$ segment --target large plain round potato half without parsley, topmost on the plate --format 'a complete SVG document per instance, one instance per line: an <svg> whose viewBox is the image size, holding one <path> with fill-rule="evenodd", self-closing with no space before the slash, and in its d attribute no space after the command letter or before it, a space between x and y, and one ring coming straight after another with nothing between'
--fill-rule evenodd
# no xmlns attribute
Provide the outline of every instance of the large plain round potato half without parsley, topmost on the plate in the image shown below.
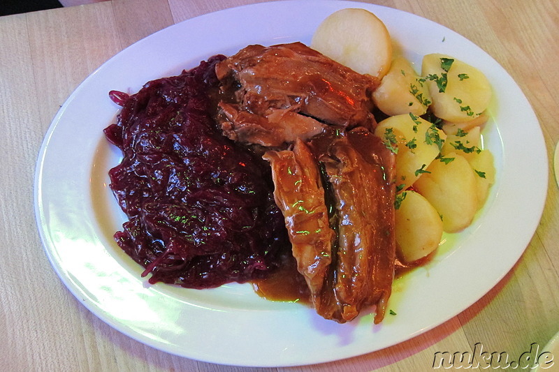
<svg viewBox="0 0 559 372"><path fill-rule="evenodd" d="M342 9L326 17L312 37L311 47L357 73L379 79L389 70L389 31L365 9Z"/></svg>

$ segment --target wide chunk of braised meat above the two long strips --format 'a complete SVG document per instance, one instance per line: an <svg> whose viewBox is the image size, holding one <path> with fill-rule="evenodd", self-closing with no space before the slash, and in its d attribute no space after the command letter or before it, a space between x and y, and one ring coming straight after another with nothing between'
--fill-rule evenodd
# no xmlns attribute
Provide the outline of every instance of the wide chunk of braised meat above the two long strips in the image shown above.
<svg viewBox="0 0 559 372"><path fill-rule="evenodd" d="M249 45L216 66L233 99L219 103L222 128L233 140L280 147L307 140L325 125L370 128L372 91L361 75L302 43Z"/></svg>

